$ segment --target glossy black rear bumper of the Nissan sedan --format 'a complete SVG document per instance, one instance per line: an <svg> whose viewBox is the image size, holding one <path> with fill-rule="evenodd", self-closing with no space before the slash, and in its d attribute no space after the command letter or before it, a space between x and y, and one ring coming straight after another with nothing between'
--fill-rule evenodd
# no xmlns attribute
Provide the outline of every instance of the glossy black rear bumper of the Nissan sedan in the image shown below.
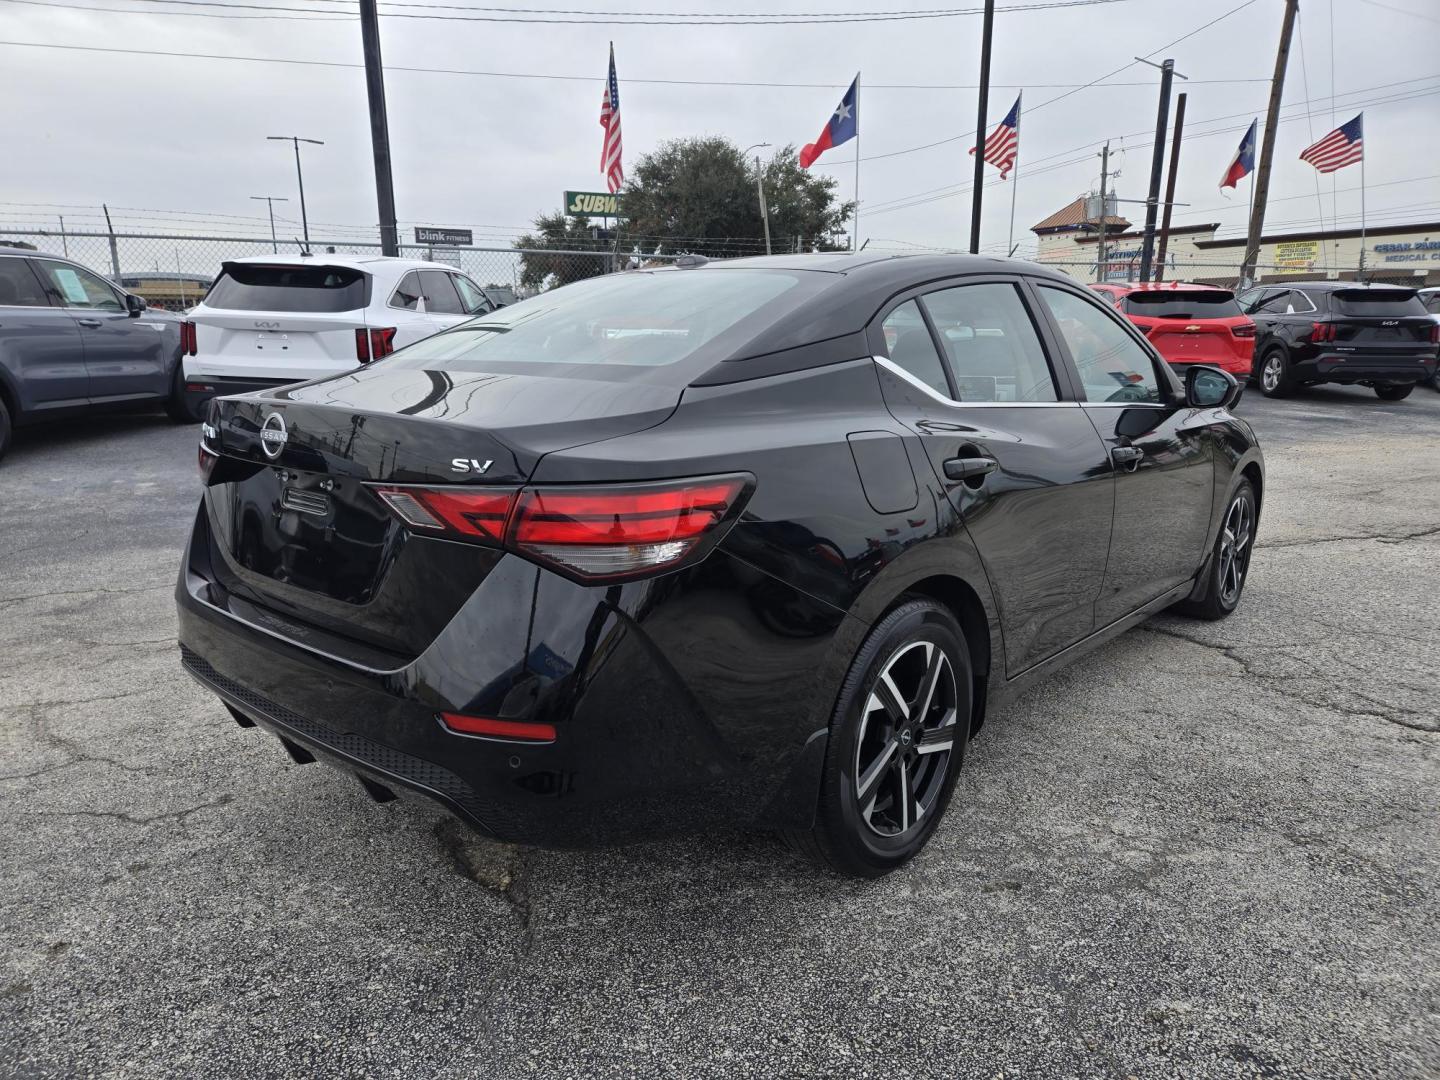
<svg viewBox="0 0 1440 1080"><path fill-rule="evenodd" d="M778 642L789 657L776 667L773 655L729 651L740 642L716 641L706 612L665 613L684 598L675 583L641 613L647 605L618 589L507 557L536 611L497 609L504 598L482 585L419 657L366 667L323 639L287 638L278 619L246 618L255 609L232 603L187 552L176 589L181 662L291 747L372 785L419 792L500 840L585 847L717 824L809 824L825 740L793 690L814 675L829 635ZM732 564L717 552L696 567L708 567L706 602ZM516 576L504 577L514 596ZM644 588L625 586L636 599ZM766 667L778 685L756 677ZM552 723L556 737L456 734L441 713Z"/></svg>

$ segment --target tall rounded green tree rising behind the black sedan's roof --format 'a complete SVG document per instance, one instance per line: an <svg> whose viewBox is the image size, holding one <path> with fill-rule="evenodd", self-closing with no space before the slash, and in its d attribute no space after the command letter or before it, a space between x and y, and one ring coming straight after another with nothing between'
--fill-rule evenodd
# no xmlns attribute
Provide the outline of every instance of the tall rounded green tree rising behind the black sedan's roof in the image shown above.
<svg viewBox="0 0 1440 1080"><path fill-rule="evenodd" d="M776 251L795 238L806 249L835 251L854 203L835 203L837 181L799 167L786 145L760 168ZM727 138L677 138L662 143L634 167L621 193L625 210L622 246L634 238L645 251L727 256L765 251L755 163Z"/></svg>

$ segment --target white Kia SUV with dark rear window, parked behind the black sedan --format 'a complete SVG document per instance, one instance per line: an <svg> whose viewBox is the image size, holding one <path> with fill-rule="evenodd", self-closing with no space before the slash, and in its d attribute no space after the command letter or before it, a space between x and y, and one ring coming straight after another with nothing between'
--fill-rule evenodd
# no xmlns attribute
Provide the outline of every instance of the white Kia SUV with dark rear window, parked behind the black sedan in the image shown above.
<svg viewBox="0 0 1440 1080"><path fill-rule="evenodd" d="M184 406L347 372L495 308L439 262L269 255L222 264L180 327Z"/></svg>

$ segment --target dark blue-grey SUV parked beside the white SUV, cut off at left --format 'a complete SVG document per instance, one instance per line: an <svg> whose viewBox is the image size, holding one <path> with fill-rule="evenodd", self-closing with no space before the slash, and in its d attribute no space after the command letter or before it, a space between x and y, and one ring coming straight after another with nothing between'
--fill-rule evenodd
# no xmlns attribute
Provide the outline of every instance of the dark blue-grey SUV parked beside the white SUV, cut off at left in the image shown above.
<svg viewBox="0 0 1440 1080"><path fill-rule="evenodd" d="M17 425L164 406L183 419L180 323L78 262L0 249L0 456Z"/></svg>

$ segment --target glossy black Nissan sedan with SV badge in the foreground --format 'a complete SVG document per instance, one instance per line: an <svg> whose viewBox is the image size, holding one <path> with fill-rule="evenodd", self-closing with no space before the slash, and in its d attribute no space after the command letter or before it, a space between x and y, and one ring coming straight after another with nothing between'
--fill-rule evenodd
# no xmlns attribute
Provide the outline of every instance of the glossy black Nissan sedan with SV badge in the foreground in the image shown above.
<svg viewBox="0 0 1440 1080"><path fill-rule="evenodd" d="M297 762L508 841L913 857L986 704L1240 602L1238 386L978 256L615 274L216 400L184 667Z"/></svg>

